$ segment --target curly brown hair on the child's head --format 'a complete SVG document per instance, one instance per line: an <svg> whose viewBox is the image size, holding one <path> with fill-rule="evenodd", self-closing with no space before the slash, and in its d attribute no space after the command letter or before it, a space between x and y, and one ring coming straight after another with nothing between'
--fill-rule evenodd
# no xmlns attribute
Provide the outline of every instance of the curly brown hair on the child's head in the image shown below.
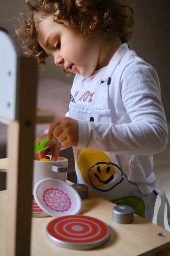
<svg viewBox="0 0 170 256"><path fill-rule="evenodd" d="M37 41L36 23L54 15L54 23L67 20L82 35L91 33L90 26L105 38L117 36L122 43L133 34L133 10L128 0L25 0L27 8L20 12L16 33L27 56L35 56L45 65L48 54ZM65 73L70 73L64 70Z"/></svg>

